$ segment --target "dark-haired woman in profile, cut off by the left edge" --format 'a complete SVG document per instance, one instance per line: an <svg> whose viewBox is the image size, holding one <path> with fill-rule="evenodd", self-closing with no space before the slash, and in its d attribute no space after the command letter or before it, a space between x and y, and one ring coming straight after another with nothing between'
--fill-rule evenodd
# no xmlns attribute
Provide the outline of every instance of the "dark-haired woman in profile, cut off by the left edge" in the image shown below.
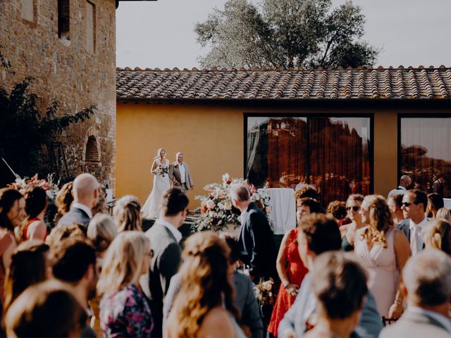
<svg viewBox="0 0 451 338"><path fill-rule="evenodd" d="M16 189L0 189L0 299L3 299L6 270L17 247L14 228L25 219L25 199Z"/></svg>

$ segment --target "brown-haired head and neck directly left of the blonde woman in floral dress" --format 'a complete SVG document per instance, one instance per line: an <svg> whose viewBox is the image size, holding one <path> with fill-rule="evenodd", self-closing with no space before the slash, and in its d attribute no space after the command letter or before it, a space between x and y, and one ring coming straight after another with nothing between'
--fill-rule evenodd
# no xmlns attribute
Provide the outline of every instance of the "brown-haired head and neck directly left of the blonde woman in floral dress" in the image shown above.
<svg viewBox="0 0 451 338"><path fill-rule="evenodd" d="M49 266L57 280L70 285L75 298L89 313L88 301L95 296L99 280L94 248L80 238L63 239L50 247ZM96 335L87 325L82 337Z"/></svg>

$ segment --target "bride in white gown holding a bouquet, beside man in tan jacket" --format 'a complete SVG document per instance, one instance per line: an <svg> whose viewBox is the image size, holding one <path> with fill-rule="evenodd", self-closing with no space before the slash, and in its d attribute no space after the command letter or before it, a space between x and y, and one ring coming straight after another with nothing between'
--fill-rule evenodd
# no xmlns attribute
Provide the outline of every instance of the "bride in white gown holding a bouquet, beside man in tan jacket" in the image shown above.
<svg viewBox="0 0 451 338"><path fill-rule="evenodd" d="M164 192L171 188L168 175L169 160L166 158L166 151L163 148L158 149L151 171L154 174L154 188L142 207L142 217L159 218L161 198Z"/></svg>

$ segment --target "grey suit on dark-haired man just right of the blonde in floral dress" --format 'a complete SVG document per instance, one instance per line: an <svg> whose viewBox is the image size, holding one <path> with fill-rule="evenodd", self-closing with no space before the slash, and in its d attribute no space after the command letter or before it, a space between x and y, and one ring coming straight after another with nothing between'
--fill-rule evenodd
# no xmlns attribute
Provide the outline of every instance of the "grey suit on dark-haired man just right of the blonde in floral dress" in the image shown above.
<svg viewBox="0 0 451 338"><path fill-rule="evenodd" d="M152 336L161 337L163 325L163 298L168 292L169 283L180 265L180 245L172 232L156 220L154 225L147 230L146 236L150 239L150 246L154 251L154 257L150 263L149 290L152 318L154 318L154 330Z"/></svg>

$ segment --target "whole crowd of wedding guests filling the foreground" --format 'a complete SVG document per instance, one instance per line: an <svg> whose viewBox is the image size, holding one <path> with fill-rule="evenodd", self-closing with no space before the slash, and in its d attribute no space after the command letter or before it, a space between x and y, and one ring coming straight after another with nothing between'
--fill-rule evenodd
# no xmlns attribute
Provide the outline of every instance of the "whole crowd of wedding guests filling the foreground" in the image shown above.
<svg viewBox="0 0 451 338"><path fill-rule="evenodd" d="M325 210L304 185L277 249L244 184L230 187L237 238L197 232L183 245L180 189L147 232L140 202L124 196L109 215L89 174L62 187L53 229L42 188L0 189L1 335L451 337L451 212L440 194L396 190ZM261 313L254 285L269 278L277 298Z"/></svg>

